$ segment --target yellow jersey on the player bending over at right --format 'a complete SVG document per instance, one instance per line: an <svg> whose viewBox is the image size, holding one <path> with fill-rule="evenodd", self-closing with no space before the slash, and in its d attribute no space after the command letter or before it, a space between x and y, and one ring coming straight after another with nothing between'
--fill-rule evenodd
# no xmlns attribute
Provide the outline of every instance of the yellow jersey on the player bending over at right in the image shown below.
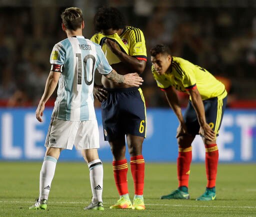
<svg viewBox="0 0 256 217"><path fill-rule="evenodd" d="M170 67L170 72L160 75L152 65L153 77L157 86L162 90L173 86L179 91L188 92L188 90L197 87L202 100L219 96L222 93L224 93L222 97L225 97L227 94L224 84L198 65L172 56Z"/></svg>

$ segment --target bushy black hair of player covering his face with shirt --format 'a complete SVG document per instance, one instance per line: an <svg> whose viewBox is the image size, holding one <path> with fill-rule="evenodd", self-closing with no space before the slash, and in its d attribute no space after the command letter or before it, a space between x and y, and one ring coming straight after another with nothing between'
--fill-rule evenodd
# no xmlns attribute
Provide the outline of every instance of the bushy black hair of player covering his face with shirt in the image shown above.
<svg viewBox="0 0 256 217"><path fill-rule="evenodd" d="M114 30L124 28L125 21L122 13L115 7L100 7L94 16L96 31L112 28Z"/></svg>

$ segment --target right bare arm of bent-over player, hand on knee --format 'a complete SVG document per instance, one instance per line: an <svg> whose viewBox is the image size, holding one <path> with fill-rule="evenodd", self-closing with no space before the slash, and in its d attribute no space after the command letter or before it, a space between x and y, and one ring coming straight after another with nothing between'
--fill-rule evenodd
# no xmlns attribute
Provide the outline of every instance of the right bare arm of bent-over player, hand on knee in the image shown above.
<svg viewBox="0 0 256 217"><path fill-rule="evenodd" d="M210 128L208 123L206 123L203 102L198 89L194 88L189 90L189 94L200 124L199 134L210 141L215 140L215 132Z"/></svg>

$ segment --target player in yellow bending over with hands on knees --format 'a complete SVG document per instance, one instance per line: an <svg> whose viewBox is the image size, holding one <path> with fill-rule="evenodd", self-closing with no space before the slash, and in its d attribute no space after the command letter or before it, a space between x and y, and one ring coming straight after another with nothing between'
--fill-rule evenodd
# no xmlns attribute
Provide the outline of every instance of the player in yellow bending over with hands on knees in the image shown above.
<svg viewBox="0 0 256 217"><path fill-rule="evenodd" d="M166 45L157 44L150 50L152 74L157 86L164 91L170 107L176 114L177 128L177 176L178 188L161 199L188 199L188 178L192 160L191 143L200 134L205 146L207 184L205 192L196 200L214 200L218 163L216 136L226 105L224 84L206 69L180 57L171 56ZM173 90L189 94L189 103L181 113L178 98Z"/></svg>

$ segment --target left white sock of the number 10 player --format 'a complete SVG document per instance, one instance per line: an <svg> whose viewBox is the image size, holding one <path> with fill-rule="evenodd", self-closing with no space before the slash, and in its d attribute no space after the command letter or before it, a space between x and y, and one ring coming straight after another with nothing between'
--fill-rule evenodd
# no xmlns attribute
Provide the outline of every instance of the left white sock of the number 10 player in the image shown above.
<svg viewBox="0 0 256 217"><path fill-rule="evenodd" d="M48 199L50 185L54 176L56 163L57 159L53 156L45 156L43 159L42 167L40 170L38 201L40 201L41 199Z"/></svg>

